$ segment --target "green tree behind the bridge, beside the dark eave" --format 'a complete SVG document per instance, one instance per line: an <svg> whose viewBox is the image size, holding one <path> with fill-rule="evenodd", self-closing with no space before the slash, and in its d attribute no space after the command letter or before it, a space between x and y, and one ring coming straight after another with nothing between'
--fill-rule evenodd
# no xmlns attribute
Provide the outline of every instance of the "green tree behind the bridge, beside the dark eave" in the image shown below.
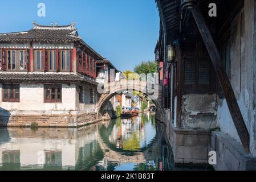
<svg viewBox="0 0 256 182"><path fill-rule="evenodd" d="M142 61L139 65L136 65L133 71L137 74L153 74L156 73L158 69L157 63L155 61Z"/></svg>

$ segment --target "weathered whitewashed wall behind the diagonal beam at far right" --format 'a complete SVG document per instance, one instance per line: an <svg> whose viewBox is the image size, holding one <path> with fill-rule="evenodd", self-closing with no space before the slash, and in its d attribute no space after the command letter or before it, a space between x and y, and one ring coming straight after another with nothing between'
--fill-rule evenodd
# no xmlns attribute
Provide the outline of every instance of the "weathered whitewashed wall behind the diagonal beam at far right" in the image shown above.
<svg viewBox="0 0 256 182"><path fill-rule="evenodd" d="M254 49L254 1L245 2L245 8L237 15L230 27L231 85L235 92L246 127L250 133L250 150L256 156L255 130L255 60ZM243 13L244 11L244 13ZM242 25L242 26L241 26ZM229 113L226 100L218 102L218 126L230 137L239 140Z"/></svg>

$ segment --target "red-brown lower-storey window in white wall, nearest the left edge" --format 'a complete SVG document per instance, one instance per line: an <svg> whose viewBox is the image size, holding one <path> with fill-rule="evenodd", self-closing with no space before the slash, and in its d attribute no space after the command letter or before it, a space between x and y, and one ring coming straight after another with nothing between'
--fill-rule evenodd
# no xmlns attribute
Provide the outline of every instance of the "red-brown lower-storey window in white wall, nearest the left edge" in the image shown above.
<svg viewBox="0 0 256 182"><path fill-rule="evenodd" d="M3 102L19 102L19 84L3 84Z"/></svg>

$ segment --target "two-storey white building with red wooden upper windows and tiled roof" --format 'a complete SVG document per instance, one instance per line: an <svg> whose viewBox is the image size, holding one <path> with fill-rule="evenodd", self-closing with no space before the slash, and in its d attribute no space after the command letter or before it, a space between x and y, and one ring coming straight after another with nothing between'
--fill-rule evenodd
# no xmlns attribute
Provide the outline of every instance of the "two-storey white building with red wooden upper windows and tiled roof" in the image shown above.
<svg viewBox="0 0 256 182"><path fill-rule="evenodd" d="M1 126L77 127L95 120L96 60L74 23L0 34Z"/></svg>

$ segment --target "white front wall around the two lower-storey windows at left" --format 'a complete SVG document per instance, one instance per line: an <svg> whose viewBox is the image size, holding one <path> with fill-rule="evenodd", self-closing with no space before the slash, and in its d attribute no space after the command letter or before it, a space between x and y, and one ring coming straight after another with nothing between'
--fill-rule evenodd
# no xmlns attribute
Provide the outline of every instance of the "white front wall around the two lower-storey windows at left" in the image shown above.
<svg viewBox="0 0 256 182"><path fill-rule="evenodd" d="M11 114L66 114L76 110L76 85L62 84L62 103L44 103L44 84L20 84L20 102L2 102L0 107Z"/></svg>

